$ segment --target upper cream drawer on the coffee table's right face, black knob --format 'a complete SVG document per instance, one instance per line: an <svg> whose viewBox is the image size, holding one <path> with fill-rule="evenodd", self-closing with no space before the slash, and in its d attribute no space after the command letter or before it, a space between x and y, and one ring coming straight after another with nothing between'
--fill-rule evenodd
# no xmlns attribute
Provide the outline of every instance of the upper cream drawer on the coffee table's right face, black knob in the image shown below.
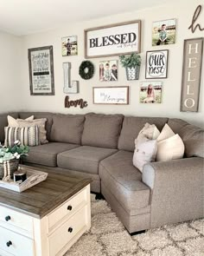
<svg viewBox="0 0 204 256"><path fill-rule="evenodd" d="M56 208L52 213L48 214L48 229L50 229L59 221L61 221L65 216L73 215L79 208L87 203L88 200L88 189L85 187L76 194L70 200L67 200L60 207Z"/></svg>

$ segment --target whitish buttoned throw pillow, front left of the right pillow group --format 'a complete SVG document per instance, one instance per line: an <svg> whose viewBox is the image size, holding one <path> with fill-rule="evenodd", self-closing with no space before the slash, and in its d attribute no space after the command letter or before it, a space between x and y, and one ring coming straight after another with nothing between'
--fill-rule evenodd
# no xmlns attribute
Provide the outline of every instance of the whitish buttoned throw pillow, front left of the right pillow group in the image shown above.
<svg viewBox="0 0 204 256"><path fill-rule="evenodd" d="M143 135L140 135L133 154L133 165L143 172L143 166L146 163L155 161L156 151L157 141L149 140Z"/></svg>

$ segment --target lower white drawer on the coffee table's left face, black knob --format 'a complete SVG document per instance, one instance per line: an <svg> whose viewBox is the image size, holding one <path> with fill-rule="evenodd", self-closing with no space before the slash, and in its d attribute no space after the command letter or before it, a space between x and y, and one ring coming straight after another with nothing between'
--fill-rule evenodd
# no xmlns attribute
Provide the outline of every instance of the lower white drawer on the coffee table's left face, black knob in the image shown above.
<svg viewBox="0 0 204 256"><path fill-rule="evenodd" d="M4 255L34 256L34 241L0 226L0 252L5 252Z"/></svg>

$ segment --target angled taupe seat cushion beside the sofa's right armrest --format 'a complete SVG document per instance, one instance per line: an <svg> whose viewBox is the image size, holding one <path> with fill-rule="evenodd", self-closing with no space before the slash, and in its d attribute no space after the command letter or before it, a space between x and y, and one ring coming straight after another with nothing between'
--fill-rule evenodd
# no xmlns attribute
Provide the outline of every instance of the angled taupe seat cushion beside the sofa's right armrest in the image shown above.
<svg viewBox="0 0 204 256"><path fill-rule="evenodd" d="M133 153L120 150L99 164L101 182L130 214L148 207L150 202L150 187L142 182L142 174L132 165L132 157Z"/></svg>

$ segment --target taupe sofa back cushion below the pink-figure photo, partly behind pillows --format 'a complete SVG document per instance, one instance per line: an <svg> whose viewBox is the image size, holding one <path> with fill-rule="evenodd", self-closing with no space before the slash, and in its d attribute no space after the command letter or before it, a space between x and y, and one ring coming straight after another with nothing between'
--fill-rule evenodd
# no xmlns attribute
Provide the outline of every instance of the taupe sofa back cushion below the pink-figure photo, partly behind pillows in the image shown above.
<svg viewBox="0 0 204 256"><path fill-rule="evenodd" d="M156 128L161 131L167 121L168 118L163 117L125 116L121 134L118 140L118 149L134 151L135 139L146 122L155 124Z"/></svg>

